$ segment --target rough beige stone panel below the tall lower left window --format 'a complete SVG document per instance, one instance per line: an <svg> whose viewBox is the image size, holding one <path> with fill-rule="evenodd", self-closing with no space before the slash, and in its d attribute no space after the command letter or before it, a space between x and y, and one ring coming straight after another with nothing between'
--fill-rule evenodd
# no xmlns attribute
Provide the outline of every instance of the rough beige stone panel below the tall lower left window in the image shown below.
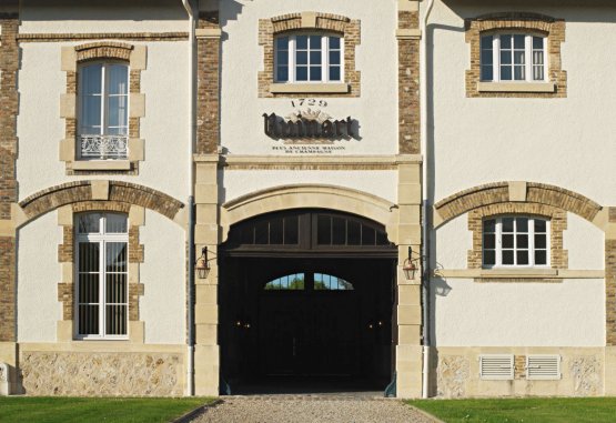
<svg viewBox="0 0 616 423"><path fill-rule="evenodd" d="M21 372L28 395L183 394L180 354L26 352Z"/></svg>

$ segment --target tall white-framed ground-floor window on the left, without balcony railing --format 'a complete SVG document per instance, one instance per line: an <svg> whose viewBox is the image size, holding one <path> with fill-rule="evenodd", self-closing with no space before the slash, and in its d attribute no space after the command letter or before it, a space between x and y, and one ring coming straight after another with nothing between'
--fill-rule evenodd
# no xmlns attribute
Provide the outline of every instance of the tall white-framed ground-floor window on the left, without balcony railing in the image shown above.
<svg viewBox="0 0 616 423"><path fill-rule="evenodd" d="M75 334L127 339L128 219L118 213L75 218Z"/></svg>

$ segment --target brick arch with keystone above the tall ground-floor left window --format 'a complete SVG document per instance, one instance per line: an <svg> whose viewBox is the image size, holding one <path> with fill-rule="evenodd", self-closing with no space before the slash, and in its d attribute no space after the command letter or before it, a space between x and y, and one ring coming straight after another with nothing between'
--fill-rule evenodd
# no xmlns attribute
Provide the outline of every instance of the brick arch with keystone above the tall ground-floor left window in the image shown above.
<svg viewBox="0 0 616 423"><path fill-rule="evenodd" d="M103 191L102 198L100 195L101 188ZM181 201L163 192L135 183L120 181L77 181L63 183L39 191L22 200L19 205L26 214L26 222L28 222L62 205L91 201L112 201L140 205L171 220L184 207Z"/></svg>

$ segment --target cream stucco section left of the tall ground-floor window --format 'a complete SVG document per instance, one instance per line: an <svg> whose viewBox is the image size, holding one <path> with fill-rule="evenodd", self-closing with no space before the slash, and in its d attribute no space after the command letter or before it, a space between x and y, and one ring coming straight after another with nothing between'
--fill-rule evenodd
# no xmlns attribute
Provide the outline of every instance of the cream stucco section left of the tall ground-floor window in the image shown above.
<svg viewBox="0 0 616 423"><path fill-rule="evenodd" d="M18 233L17 338L19 342L55 342L55 325L62 319L58 302L58 244L62 228L57 213L30 222Z"/></svg>

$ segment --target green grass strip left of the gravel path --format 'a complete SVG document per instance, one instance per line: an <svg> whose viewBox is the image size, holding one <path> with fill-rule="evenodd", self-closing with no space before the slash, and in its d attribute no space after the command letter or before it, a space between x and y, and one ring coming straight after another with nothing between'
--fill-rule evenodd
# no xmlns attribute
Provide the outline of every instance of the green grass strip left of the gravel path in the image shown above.
<svg viewBox="0 0 616 423"><path fill-rule="evenodd" d="M206 397L110 399L1 396L0 422L166 423L204 404Z"/></svg>

